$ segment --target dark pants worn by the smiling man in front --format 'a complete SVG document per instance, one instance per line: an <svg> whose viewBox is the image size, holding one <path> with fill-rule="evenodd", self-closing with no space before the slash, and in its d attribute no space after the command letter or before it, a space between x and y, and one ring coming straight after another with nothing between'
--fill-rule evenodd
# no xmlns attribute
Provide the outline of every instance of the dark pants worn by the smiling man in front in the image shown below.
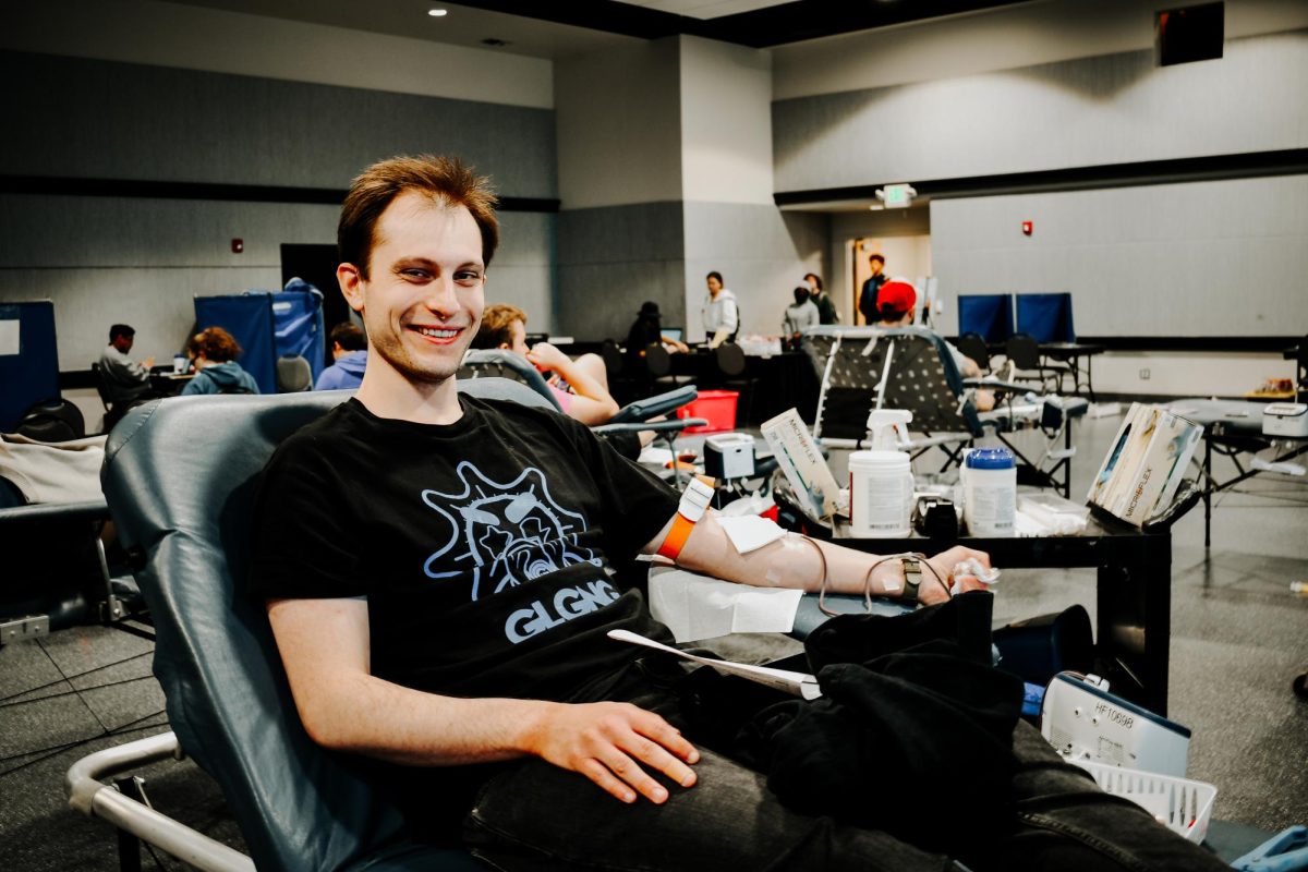
<svg viewBox="0 0 1308 872"><path fill-rule="evenodd" d="M679 723L663 692L621 694ZM955 863L879 830L799 814L768 791L766 778L700 748L697 783L661 779L671 797L625 805L589 779L539 760L496 775L464 820L472 852L500 869L1228 869L1129 800L1109 796L1063 763L1025 723L1014 732L1012 830L984 855ZM940 826L965 808L923 808Z"/></svg>

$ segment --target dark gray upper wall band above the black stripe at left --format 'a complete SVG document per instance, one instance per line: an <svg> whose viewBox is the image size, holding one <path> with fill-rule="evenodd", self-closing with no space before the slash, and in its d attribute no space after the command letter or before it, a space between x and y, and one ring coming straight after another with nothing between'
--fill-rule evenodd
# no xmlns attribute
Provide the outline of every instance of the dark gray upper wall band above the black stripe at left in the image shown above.
<svg viewBox="0 0 1308 872"><path fill-rule="evenodd" d="M549 110L8 51L0 76L0 173L344 188L439 152L501 193L557 196Z"/></svg>

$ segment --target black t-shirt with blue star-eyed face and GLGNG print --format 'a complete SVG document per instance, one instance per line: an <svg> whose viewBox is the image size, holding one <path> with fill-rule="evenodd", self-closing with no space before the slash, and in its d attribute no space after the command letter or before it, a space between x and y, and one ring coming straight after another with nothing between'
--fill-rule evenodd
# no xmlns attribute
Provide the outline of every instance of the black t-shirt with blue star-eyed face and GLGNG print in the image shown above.
<svg viewBox="0 0 1308 872"><path fill-rule="evenodd" d="M371 669L462 697L568 699L668 639L623 565L678 493L572 418L462 396L451 425L349 400L264 471L252 586L266 599L366 596Z"/></svg>

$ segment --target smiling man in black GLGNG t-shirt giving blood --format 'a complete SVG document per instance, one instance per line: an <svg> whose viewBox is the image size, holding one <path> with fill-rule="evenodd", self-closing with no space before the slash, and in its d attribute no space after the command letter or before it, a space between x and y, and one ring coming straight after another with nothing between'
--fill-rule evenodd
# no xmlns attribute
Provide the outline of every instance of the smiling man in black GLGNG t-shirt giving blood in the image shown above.
<svg viewBox="0 0 1308 872"><path fill-rule="evenodd" d="M666 660L606 637L670 638L611 573L637 552L901 597L917 567L793 536L740 554L712 512L674 522L678 494L585 426L456 392L493 203L484 179L430 156L374 165L345 197L336 275L364 316L368 371L269 460L251 556L309 736L394 791L415 838L462 839L497 869L956 868L782 807L764 775L681 732ZM922 558L918 600L982 587L950 574L968 557L989 562L961 546ZM1011 828L971 868L1226 868L1099 792L1029 726L1012 735ZM939 828L968 811L914 809Z"/></svg>

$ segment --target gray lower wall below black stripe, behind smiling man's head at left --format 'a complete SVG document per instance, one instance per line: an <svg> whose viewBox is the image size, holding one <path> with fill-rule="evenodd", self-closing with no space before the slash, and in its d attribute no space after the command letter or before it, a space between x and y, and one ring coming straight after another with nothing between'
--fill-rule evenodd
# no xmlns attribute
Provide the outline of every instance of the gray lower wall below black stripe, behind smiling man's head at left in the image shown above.
<svg viewBox="0 0 1308 872"><path fill-rule="evenodd" d="M137 329L135 354L170 357L196 294L281 286L281 243L334 243L328 205L0 195L0 299L54 299L60 369L99 354L109 326ZM552 214L505 213L488 298L552 323ZM233 237L245 252L232 254ZM323 293L339 293L335 286Z"/></svg>

